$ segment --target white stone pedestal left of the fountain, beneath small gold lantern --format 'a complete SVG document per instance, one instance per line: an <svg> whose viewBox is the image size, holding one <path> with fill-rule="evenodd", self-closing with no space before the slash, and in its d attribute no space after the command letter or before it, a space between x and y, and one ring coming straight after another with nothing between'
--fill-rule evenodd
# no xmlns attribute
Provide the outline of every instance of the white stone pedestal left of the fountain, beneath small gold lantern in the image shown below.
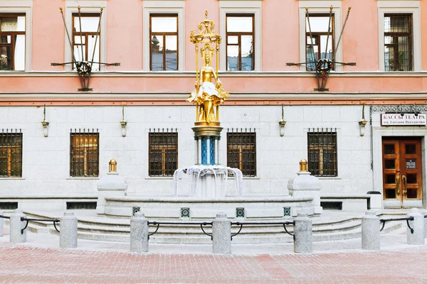
<svg viewBox="0 0 427 284"><path fill-rule="evenodd" d="M126 196L127 182L117 172L110 172L104 175L97 182L98 198L96 202L96 213L105 214L105 197Z"/></svg>

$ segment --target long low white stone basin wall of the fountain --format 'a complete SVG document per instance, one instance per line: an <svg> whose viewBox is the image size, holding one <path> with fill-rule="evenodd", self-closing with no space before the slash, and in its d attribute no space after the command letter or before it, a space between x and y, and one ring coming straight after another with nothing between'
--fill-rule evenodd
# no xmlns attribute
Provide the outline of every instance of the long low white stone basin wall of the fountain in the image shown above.
<svg viewBox="0 0 427 284"><path fill-rule="evenodd" d="M218 212L226 213L228 218L283 219L295 217L300 212L313 215L312 200L312 197L291 196L229 197L220 200L189 197L105 197L105 215L132 217L132 212L137 207L148 219L214 219Z"/></svg>

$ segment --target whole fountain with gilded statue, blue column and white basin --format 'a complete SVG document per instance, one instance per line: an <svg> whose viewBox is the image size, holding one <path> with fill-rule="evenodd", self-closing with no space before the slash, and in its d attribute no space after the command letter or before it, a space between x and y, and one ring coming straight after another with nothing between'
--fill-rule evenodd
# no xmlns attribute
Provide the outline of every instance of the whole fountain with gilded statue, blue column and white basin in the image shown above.
<svg viewBox="0 0 427 284"><path fill-rule="evenodd" d="M198 30L191 31L190 36L196 51L195 89L187 99L196 105L196 121L192 127L194 165L175 171L174 197L105 197L105 215L129 217L135 209L144 212L150 219L171 220L213 219L218 212L238 219L283 219L296 216L299 212L314 214L313 198L310 196L243 197L241 170L219 163L223 129L219 109L229 94L218 78L221 36L214 33L214 22L209 21L207 11L205 15ZM214 54L216 69L211 66ZM203 60L200 68L199 56ZM233 185L233 197L226 196L226 192L229 193L227 185ZM182 197L182 192L189 193Z"/></svg>

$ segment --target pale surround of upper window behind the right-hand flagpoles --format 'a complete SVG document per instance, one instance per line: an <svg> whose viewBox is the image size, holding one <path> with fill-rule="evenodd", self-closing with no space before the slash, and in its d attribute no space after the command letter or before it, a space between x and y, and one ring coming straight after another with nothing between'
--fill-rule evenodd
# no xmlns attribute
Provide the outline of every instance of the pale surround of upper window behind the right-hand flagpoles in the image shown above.
<svg viewBox="0 0 427 284"><path fill-rule="evenodd" d="M324 14L329 15L330 14L330 6L333 6L332 14L334 15L334 38L332 39L334 43L337 41L337 37L339 37L339 34L342 30L342 9L341 9L341 0L330 0L330 1L317 1L317 0L300 0L299 3L299 16L300 16L300 62L306 62L307 61L307 55L306 55L306 37L305 37L305 8L308 7L308 12L310 15L315 14ZM335 48L335 46L334 46ZM336 62L342 62L342 43L339 45L337 50L335 51L335 61ZM314 71L307 71L307 68L305 65L300 65L300 71L302 72L314 72ZM337 64L334 66L334 71L341 72L342 71L342 65Z"/></svg>

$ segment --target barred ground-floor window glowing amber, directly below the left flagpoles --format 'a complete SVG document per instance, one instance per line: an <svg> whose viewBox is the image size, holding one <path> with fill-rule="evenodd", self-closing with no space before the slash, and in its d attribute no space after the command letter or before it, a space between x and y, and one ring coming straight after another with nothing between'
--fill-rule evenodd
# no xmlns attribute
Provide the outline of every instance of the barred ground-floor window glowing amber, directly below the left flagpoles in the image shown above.
<svg viewBox="0 0 427 284"><path fill-rule="evenodd" d="M76 143L73 143L74 141L73 141L73 136L77 136L77 137L83 137L83 138L86 138L87 136L92 136L92 139L93 138L96 138L97 139L97 143L96 144L90 144L90 143L88 143L88 144L86 144L86 143L83 143L83 175L79 175L79 174L76 174L76 175L74 175L74 173L73 172L75 172L76 170L75 170L75 166L77 165L77 168L80 166L79 164L80 164L80 161L79 160L75 160L76 158L75 158L75 151L74 151L74 149L75 149L75 144ZM96 148L95 148L95 146L96 146ZM81 148L82 147L79 147L77 150L79 151L79 150L81 150ZM91 171L89 168L90 168L90 166L89 166L89 160L88 160L88 155L89 155L89 153L87 153L87 151L88 151L88 148L92 148L92 150L95 150L96 151L96 170L95 170L95 174L92 174L92 175L90 175L88 172L89 171ZM82 153L77 153L78 155L82 155ZM79 171L79 169L77 170L77 171ZM97 178L97 177L99 177L99 175L100 175L100 133L99 132L95 132L95 131L93 131L93 132L85 132L84 131L84 129L83 129L83 132L80 132L80 130L79 130L79 132L77 132L77 131L75 131L75 132L73 132L73 131L71 131L70 132L70 177L71 178Z"/></svg>

